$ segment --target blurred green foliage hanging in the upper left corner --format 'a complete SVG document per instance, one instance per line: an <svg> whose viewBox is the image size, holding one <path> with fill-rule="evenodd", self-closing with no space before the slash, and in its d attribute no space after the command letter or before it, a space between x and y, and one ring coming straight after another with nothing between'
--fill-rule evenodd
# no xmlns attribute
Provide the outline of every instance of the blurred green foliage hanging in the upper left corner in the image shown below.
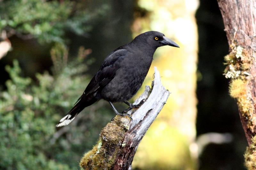
<svg viewBox="0 0 256 170"><path fill-rule="evenodd" d="M88 22L107 8L89 13L83 1L8 0L0 1L0 33L37 38L39 42L63 42L65 31L82 35Z"/></svg>

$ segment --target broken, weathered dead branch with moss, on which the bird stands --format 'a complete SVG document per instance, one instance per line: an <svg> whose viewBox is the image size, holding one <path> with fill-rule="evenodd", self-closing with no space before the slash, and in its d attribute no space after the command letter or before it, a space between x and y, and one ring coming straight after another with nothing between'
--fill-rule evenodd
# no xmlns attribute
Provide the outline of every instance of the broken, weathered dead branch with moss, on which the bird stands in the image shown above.
<svg viewBox="0 0 256 170"><path fill-rule="evenodd" d="M83 169L132 169L132 160L141 139L170 94L161 84L156 67L154 77L151 89L146 86L144 93L133 103L145 100L143 105L128 111L132 121L129 117L114 117L100 132L98 145L81 159Z"/></svg>

